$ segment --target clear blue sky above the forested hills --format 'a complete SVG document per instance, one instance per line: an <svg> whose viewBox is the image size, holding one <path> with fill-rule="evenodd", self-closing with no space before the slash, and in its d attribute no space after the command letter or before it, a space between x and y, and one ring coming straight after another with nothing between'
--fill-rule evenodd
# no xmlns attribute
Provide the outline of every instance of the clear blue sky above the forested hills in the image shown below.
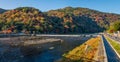
<svg viewBox="0 0 120 62"><path fill-rule="evenodd" d="M119 13L120 0L0 0L0 8L35 7L41 11L72 7L85 7L102 12Z"/></svg>

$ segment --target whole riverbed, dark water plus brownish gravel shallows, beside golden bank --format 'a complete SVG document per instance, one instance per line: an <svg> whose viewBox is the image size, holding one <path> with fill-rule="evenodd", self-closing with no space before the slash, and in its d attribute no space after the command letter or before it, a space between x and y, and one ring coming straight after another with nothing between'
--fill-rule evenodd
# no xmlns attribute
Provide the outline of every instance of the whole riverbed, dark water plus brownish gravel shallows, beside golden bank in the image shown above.
<svg viewBox="0 0 120 62"><path fill-rule="evenodd" d="M0 62L54 62L60 59L63 53L89 38L91 37L0 38ZM59 40L39 43L43 39ZM38 43L23 45L24 42L31 40Z"/></svg>

